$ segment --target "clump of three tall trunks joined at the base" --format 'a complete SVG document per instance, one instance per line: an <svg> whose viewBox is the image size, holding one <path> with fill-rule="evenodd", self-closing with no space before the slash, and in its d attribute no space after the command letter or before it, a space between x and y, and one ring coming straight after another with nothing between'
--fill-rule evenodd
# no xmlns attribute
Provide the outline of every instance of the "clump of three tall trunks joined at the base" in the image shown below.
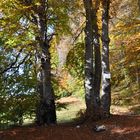
<svg viewBox="0 0 140 140"><path fill-rule="evenodd" d="M85 27L85 100L87 117L97 119L110 114L111 89L109 70L109 0L103 1L102 67L96 10L92 0L83 0L86 11ZM94 60L95 59L95 60ZM95 66L95 67L94 67ZM102 96L100 84L102 73Z"/></svg>

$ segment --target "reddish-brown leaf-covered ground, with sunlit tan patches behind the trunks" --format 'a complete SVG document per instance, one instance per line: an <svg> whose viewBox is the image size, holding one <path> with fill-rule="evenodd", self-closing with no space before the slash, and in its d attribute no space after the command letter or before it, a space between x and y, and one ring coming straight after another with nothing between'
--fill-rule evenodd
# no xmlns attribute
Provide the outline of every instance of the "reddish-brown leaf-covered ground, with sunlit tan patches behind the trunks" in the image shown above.
<svg viewBox="0 0 140 140"><path fill-rule="evenodd" d="M77 103L74 98L60 102ZM140 115L131 115L127 109L113 107L109 119L81 125L59 123L54 126L27 125L0 131L0 140L140 140ZM117 115L119 114L119 115ZM95 125L105 125L106 130L95 132Z"/></svg>

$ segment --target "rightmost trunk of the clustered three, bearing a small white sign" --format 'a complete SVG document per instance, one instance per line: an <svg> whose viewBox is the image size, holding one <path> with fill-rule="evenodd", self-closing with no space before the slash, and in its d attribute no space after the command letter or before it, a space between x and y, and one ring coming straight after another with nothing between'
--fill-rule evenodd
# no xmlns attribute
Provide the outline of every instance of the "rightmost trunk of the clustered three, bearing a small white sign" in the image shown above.
<svg viewBox="0 0 140 140"><path fill-rule="evenodd" d="M102 96L101 107L103 116L110 115L111 105L111 84L110 84L110 68L109 68L109 0L103 0L102 6Z"/></svg>

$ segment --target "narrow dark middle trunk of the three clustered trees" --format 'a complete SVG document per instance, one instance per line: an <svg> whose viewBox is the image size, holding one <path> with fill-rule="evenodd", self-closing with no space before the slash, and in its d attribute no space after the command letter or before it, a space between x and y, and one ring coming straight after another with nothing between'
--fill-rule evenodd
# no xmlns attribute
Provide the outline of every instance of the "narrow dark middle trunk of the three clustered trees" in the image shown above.
<svg viewBox="0 0 140 140"><path fill-rule="evenodd" d="M101 86L101 52L100 52L100 42L98 34L98 25L97 25L97 16L96 9L92 8L92 27L93 27L93 44L94 44L94 58L95 58L95 67L94 67L94 103L96 108L96 114L100 115L100 86Z"/></svg>

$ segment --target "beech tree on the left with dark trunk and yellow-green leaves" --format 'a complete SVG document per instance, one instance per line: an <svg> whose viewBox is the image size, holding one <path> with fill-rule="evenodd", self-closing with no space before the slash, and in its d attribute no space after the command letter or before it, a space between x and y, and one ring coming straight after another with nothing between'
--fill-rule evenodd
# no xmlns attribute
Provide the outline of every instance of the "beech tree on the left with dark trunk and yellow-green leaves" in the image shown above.
<svg viewBox="0 0 140 140"><path fill-rule="evenodd" d="M27 50L27 56L29 52L34 54L37 57L37 63L41 63L38 80L40 101L36 112L37 123L56 123L50 47L54 35L69 32L68 14L72 8L70 2L56 0L14 0L11 2L7 0L2 1L0 7L1 33L5 37L5 42L14 49L18 46ZM21 40L24 45L21 45ZM6 72L6 69L3 72Z"/></svg>

